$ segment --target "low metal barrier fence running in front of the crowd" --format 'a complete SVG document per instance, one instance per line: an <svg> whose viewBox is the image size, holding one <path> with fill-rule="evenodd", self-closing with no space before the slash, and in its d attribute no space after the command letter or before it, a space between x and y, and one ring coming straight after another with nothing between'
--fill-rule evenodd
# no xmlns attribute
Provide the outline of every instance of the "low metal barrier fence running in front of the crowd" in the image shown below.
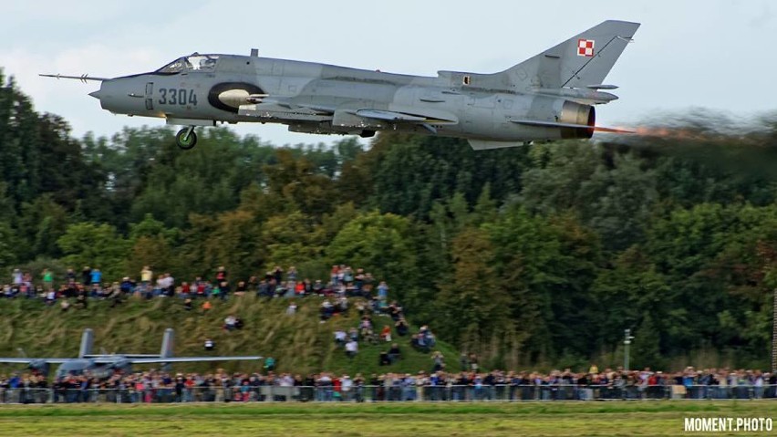
<svg viewBox="0 0 777 437"><path fill-rule="evenodd" d="M0 403L173 403L173 402L383 402L383 401L618 401L777 399L765 386L238 386L155 389L0 389Z"/></svg>

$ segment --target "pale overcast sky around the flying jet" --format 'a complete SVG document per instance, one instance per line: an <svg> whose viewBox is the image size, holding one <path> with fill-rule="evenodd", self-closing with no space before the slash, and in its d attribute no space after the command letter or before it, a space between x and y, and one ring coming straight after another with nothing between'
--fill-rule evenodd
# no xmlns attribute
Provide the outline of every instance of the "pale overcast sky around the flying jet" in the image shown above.
<svg viewBox="0 0 777 437"><path fill-rule="evenodd" d="M529 6L531 5L531 6ZM606 19L642 23L606 79L619 100L600 125L704 107L747 118L777 107L777 3L768 0L241 1L25 0L0 5L0 68L36 110L68 120L73 134L160 126L100 109L98 84L38 73L115 77L192 52L324 62L436 76L439 69L509 68ZM240 124L275 144L331 142L281 125Z"/></svg>

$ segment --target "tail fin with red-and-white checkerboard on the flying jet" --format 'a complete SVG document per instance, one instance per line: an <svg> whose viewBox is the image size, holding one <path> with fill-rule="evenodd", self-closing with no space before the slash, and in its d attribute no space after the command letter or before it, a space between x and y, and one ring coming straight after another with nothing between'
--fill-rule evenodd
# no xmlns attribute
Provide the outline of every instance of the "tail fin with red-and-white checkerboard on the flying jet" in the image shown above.
<svg viewBox="0 0 777 437"><path fill-rule="evenodd" d="M616 63L639 23L609 20L498 75L516 88L596 88Z"/></svg>

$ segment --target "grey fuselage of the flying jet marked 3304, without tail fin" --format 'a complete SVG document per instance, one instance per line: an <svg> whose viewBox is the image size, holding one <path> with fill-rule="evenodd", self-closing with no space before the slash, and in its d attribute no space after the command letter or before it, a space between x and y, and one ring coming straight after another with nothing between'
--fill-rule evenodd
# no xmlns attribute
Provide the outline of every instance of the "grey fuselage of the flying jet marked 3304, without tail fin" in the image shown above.
<svg viewBox="0 0 777 437"><path fill-rule="evenodd" d="M593 123L592 107L553 95L478 88L478 76L442 72L438 78L427 78L221 55L212 71L154 72L106 80L98 98L102 108L111 112L165 118L171 124L258 121L283 123L289 130L310 133L397 130L497 141L590 136L579 129L524 126L513 120L567 118L587 124L589 118ZM241 99L250 95L267 97L254 105ZM359 115L368 110L418 114L428 122Z"/></svg>

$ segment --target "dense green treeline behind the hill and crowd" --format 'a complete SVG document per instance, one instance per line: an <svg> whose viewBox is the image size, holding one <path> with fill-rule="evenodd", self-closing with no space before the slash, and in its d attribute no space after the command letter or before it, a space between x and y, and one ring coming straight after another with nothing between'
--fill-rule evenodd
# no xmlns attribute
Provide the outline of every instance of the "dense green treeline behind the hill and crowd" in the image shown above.
<svg viewBox="0 0 777 437"><path fill-rule="evenodd" d="M73 139L0 77L0 284L13 267L324 278L347 264L497 367L616 365L631 328L636 366L766 368L777 122L678 123L480 152L392 134L275 147L212 129L180 151L164 128Z"/></svg>

